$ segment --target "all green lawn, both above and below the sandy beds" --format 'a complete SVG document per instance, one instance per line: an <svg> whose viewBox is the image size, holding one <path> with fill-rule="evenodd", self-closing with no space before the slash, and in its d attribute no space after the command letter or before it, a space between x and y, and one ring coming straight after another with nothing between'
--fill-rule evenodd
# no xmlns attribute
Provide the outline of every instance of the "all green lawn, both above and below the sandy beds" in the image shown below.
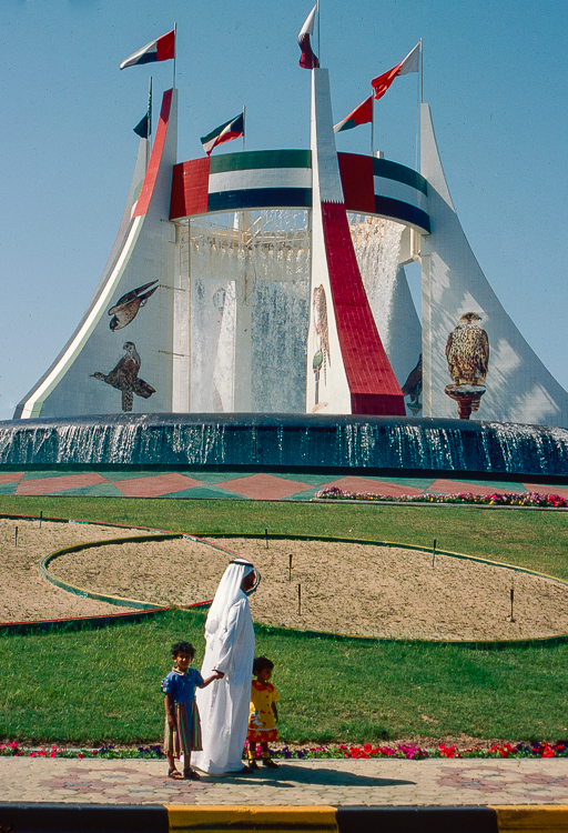
<svg viewBox="0 0 568 833"><path fill-rule="evenodd" d="M568 514L471 506L246 501L0 498L0 512L113 521L219 534L317 534L399 541L519 564L568 580ZM160 679L169 646L203 651L203 614L172 611L136 625L0 638L0 737L90 745L162 734ZM422 735L557 740L568 645L470 651L308 638L257 628L276 663L287 742L373 742Z"/></svg>

